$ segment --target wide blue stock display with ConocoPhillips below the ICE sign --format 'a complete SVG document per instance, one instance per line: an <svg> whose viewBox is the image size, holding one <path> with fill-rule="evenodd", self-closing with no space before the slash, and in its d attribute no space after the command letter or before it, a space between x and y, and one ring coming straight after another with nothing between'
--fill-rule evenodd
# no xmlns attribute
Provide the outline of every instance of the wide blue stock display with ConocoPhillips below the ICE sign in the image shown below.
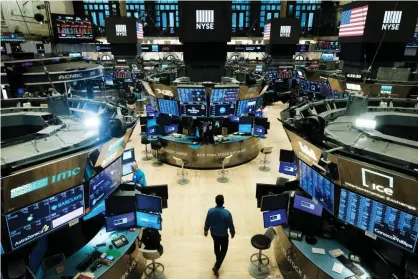
<svg viewBox="0 0 418 279"><path fill-rule="evenodd" d="M418 218L341 189L338 218L410 252L415 251Z"/></svg>

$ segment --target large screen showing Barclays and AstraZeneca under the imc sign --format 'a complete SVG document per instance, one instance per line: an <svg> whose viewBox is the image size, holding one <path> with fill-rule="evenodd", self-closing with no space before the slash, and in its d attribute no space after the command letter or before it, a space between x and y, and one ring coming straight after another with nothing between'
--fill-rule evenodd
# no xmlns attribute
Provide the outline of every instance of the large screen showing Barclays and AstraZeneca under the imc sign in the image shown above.
<svg viewBox="0 0 418 279"><path fill-rule="evenodd" d="M83 185L6 215L12 249L84 215Z"/></svg>

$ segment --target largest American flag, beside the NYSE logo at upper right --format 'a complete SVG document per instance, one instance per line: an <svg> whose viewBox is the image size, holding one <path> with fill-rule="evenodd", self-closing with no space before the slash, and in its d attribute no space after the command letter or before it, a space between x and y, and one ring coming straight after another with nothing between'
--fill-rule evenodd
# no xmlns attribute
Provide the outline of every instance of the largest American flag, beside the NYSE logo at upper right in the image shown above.
<svg viewBox="0 0 418 279"><path fill-rule="evenodd" d="M363 36L368 6L343 11L339 37Z"/></svg>

